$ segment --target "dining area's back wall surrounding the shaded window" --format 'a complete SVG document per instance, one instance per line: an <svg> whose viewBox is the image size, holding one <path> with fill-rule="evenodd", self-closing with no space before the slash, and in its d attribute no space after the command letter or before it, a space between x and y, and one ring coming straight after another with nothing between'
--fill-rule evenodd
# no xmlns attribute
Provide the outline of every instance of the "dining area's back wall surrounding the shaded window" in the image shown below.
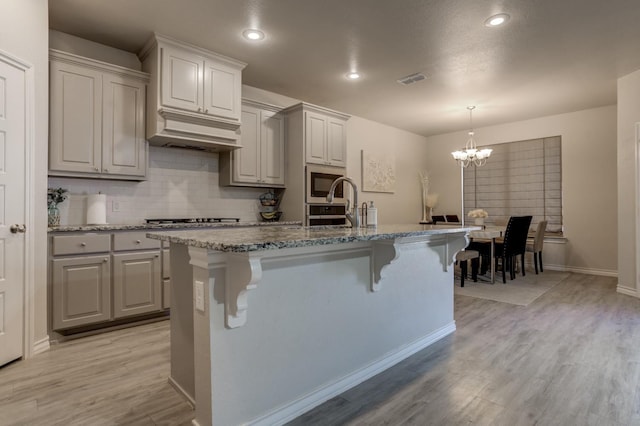
<svg viewBox="0 0 640 426"><path fill-rule="evenodd" d="M566 250L558 253L562 258L552 263L569 270L615 275L618 268L616 111L616 106L606 106L475 129L478 145L562 137L563 219L568 242ZM466 140L466 131L427 138L432 192L440 194L436 213L461 209L460 168L450 153Z"/></svg>

